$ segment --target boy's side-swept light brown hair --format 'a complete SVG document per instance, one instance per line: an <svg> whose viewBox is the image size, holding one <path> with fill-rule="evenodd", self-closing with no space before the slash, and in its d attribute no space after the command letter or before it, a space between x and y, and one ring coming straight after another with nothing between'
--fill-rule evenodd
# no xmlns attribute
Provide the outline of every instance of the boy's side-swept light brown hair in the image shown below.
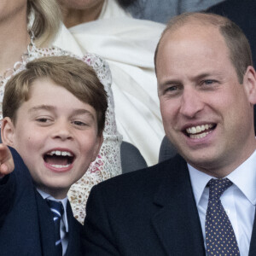
<svg viewBox="0 0 256 256"><path fill-rule="evenodd" d="M49 56L30 61L26 69L9 79L3 96L3 117L15 124L16 114L30 98L30 88L38 79L50 79L96 110L98 134L104 129L108 108L107 93L92 67L77 58Z"/></svg>

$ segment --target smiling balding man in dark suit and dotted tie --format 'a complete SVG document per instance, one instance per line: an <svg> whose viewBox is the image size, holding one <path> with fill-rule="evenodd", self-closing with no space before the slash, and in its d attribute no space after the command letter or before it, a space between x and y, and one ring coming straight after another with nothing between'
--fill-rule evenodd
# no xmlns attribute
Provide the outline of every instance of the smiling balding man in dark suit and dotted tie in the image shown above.
<svg viewBox="0 0 256 256"><path fill-rule="evenodd" d="M89 255L255 255L252 65L230 20L195 13L169 22L155 69L166 136L180 155L92 190Z"/></svg>

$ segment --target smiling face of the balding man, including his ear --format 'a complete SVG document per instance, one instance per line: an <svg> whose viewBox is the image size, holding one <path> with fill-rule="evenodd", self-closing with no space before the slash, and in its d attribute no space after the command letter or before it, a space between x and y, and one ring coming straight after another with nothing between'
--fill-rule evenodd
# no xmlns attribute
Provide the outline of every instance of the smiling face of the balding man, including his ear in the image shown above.
<svg viewBox="0 0 256 256"><path fill-rule="evenodd" d="M194 24L167 32L156 67L166 136L189 164L231 172L253 153L255 73L248 67L239 84L218 29Z"/></svg>

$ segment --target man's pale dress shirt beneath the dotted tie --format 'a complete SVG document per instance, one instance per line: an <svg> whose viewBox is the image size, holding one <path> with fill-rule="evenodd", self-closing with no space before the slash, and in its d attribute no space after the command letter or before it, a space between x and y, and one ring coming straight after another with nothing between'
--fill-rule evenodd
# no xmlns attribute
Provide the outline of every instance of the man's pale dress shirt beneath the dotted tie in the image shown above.
<svg viewBox="0 0 256 256"><path fill-rule="evenodd" d="M188 167L206 247L205 221L209 197L209 188L206 186L212 177L189 164ZM247 256L256 204L256 151L227 177L233 184L224 191L220 200L235 231L240 254Z"/></svg>

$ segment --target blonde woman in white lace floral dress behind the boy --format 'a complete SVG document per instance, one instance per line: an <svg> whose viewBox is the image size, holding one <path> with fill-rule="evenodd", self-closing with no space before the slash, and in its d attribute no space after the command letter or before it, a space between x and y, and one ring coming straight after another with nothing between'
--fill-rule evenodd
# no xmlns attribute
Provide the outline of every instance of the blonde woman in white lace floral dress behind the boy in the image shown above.
<svg viewBox="0 0 256 256"><path fill-rule="evenodd" d="M6 82L19 73L26 63L47 55L71 55L53 46L55 35L61 26L61 12L55 0L3 0L0 3L0 119L3 118L2 102ZM80 56L93 67L108 94L104 141L96 160L77 183L73 184L68 197L73 213L84 221L85 204L90 189L109 177L121 173L120 143L122 137L116 129L111 73L108 63L95 54Z"/></svg>

